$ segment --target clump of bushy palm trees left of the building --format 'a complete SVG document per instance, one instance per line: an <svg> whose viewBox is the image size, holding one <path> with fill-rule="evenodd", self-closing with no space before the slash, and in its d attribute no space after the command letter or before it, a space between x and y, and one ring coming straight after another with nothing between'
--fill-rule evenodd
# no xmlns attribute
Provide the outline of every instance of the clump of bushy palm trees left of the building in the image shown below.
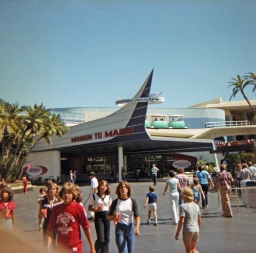
<svg viewBox="0 0 256 253"><path fill-rule="evenodd" d="M69 129L61 122L60 115L51 114L42 104L19 108L18 103L11 105L3 100L0 100L0 127L3 129L0 172L9 181L20 176L29 153L41 139L50 144L51 136L61 137Z"/></svg>

